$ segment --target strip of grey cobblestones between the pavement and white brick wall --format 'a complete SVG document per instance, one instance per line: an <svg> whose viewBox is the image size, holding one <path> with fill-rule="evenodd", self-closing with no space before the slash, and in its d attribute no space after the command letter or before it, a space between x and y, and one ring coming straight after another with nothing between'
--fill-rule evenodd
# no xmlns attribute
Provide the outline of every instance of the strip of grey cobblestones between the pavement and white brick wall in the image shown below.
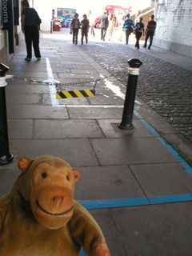
<svg viewBox="0 0 192 256"><path fill-rule="evenodd" d="M87 45L81 50L125 86L127 60L140 59L138 97L192 142L192 72L120 44L105 46Z"/></svg>

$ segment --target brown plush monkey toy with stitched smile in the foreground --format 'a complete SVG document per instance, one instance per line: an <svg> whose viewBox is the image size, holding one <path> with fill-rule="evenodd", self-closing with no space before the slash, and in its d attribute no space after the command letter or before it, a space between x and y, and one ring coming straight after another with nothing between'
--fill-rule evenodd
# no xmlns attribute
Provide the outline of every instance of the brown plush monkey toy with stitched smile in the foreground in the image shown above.
<svg viewBox="0 0 192 256"><path fill-rule="evenodd" d="M22 171L0 199L1 256L110 256L94 218L74 201L77 170L60 158L21 158Z"/></svg>

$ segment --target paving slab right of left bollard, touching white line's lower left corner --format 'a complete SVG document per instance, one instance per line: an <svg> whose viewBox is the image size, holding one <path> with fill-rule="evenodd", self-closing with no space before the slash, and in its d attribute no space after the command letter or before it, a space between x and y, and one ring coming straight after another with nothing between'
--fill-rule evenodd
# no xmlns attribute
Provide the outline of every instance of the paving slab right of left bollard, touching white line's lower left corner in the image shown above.
<svg viewBox="0 0 192 256"><path fill-rule="evenodd" d="M69 118L66 107L52 107L42 105L8 105L8 118L26 119L26 118Z"/></svg>

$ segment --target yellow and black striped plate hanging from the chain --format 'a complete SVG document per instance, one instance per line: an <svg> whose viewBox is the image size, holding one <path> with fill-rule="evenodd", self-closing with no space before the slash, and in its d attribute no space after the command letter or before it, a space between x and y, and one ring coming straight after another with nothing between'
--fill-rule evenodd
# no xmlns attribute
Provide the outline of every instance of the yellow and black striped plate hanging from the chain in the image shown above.
<svg viewBox="0 0 192 256"><path fill-rule="evenodd" d="M57 93L56 98L83 98L83 97L94 97L95 90L70 90L60 91Z"/></svg>

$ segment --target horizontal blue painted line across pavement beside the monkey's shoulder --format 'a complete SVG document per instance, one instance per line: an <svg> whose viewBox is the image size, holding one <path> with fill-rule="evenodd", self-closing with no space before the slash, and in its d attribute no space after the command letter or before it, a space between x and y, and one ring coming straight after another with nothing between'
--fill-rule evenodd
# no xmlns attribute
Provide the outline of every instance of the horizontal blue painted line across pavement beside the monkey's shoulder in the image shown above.
<svg viewBox="0 0 192 256"><path fill-rule="evenodd" d="M107 200L80 200L78 201L86 210L121 208L130 206L149 206L171 202L191 202L192 194L170 194L147 198L120 198Z"/></svg>

